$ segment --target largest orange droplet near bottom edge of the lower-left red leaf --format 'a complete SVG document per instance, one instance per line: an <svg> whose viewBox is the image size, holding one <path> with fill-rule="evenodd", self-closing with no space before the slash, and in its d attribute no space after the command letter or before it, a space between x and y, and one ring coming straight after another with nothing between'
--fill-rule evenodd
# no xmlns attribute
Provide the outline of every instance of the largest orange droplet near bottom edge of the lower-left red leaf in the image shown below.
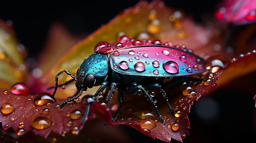
<svg viewBox="0 0 256 143"><path fill-rule="evenodd" d="M32 123L31 127L36 129L36 130L43 130L47 129L52 126L52 120L50 120L47 117L36 117Z"/></svg>

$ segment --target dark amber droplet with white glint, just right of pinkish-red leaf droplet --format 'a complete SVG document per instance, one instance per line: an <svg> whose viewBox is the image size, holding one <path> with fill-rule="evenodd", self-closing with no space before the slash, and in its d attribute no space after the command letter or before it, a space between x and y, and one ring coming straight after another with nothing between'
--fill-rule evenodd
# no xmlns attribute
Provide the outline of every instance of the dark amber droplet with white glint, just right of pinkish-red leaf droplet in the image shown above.
<svg viewBox="0 0 256 143"><path fill-rule="evenodd" d="M38 93L34 99L34 103L38 106L43 106L49 102L56 102L56 99L47 92Z"/></svg>

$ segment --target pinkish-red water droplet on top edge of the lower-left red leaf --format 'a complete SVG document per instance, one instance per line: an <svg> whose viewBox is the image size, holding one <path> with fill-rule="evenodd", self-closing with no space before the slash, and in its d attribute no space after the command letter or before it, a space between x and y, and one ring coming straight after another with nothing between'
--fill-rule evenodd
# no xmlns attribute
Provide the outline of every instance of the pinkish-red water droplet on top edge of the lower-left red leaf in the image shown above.
<svg viewBox="0 0 256 143"><path fill-rule="evenodd" d="M24 83L18 82L11 86L10 92L15 95L29 95L29 88Z"/></svg>

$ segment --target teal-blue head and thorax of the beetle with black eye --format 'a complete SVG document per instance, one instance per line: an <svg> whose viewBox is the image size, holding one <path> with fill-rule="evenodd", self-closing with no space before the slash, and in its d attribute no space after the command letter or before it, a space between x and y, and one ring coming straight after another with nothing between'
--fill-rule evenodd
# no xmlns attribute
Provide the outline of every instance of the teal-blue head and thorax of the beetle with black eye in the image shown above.
<svg viewBox="0 0 256 143"><path fill-rule="evenodd" d="M87 88L99 86L106 80L108 73L108 57L94 53L83 61L76 72L77 90L86 91Z"/></svg>

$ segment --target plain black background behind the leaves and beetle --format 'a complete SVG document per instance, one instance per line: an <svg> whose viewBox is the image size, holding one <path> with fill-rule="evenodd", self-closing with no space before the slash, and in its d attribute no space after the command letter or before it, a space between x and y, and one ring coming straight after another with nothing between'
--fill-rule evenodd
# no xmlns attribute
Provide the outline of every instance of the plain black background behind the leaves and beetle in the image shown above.
<svg viewBox="0 0 256 143"><path fill-rule="evenodd" d="M192 15L196 22L200 22L203 13L213 13L213 9L220 0L165 0L164 2L186 14ZM34 57L43 47L49 26L55 20L63 22L70 32L81 34L93 32L102 24L106 24L119 12L134 6L138 0L127 1L76 1L49 3L9 3L1 4L0 19L13 22L17 38L29 49L29 56ZM239 79L238 79L239 80ZM249 80L249 79L248 79ZM191 123L190 136L185 143L243 142L254 140L256 130L253 125L254 95L233 89L221 90L214 96L200 98L191 108L189 119ZM234 98L236 97L236 98ZM212 118L200 117L204 114L216 113ZM202 110L203 109L203 110ZM135 142L161 142L142 135L137 130L127 128L127 132ZM252 141L253 142L253 141ZM175 141L172 141L175 143Z"/></svg>

